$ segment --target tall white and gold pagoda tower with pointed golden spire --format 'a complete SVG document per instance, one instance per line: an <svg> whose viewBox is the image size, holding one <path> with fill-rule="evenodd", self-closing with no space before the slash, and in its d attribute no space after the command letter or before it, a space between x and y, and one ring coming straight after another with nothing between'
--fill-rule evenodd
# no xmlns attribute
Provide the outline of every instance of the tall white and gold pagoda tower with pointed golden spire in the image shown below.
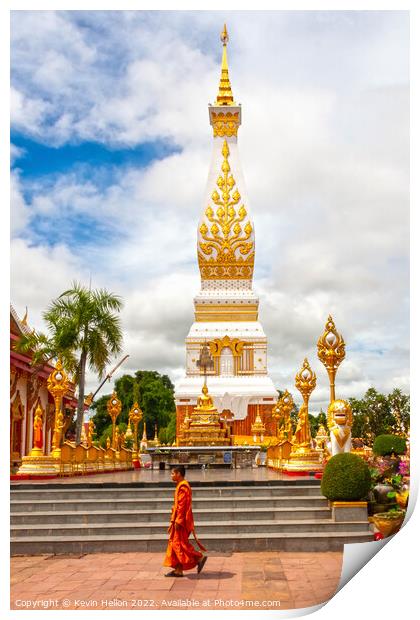
<svg viewBox="0 0 420 620"><path fill-rule="evenodd" d="M175 390L177 437L200 398L203 372L209 393L230 424L235 444L253 443L257 412L267 436L276 436L272 409L278 393L267 373L267 338L258 321L258 297L252 290L254 225L241 170L238 129L242 110L232 94L226 25L219 92L209 105L213 153L198 224L201 290L194 299L195 322L186 338L186 375ZM208 345L211 369L200 366ZM258 410L258 411L257 411Z"/></svg>

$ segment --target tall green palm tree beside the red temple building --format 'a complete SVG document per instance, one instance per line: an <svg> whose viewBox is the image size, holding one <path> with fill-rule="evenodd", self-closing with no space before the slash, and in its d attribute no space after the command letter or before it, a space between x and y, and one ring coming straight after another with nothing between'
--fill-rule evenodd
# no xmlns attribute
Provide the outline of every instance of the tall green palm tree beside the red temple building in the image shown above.
<svg viewBox="0 0 420 620"><path fill-rule="evenodd" d="M19 351L32 352L33 364L61 357L64 367L75 372L79 387L76 444L82 432L86 367L101 378L112 357L121 352L122 331L116 313L122 305L118 295L73 282L43 314L49 334L34 331L22 336L16 346Z"/></svg>

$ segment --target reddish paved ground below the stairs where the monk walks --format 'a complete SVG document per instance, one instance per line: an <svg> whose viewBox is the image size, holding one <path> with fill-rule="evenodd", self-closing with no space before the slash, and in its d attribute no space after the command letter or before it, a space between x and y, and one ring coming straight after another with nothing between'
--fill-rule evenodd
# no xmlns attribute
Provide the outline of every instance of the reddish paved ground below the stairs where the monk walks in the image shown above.
<svg viewBox="0 0 420 620"><path fill-rule="evenodd" d="M164 577L161 553L11 559L11 609L294 609L330 599L342 553L211 554L203 572Z"/></svg>

